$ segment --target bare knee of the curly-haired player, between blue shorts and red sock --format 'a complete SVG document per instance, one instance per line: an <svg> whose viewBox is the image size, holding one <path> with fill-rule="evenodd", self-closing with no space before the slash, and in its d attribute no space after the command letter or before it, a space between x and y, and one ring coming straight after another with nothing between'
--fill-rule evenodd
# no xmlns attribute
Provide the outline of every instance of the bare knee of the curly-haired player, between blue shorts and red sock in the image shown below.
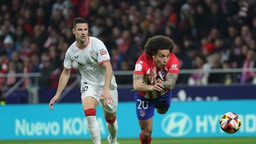
<svg viewBox="0 0 256 144"><path fill-rule="evenodd" d="M152 133L152 128L153 128L153 118L149 119L144 119L144 120L139 120L139 126L142 130L142 135L151 135Z"/></svg>

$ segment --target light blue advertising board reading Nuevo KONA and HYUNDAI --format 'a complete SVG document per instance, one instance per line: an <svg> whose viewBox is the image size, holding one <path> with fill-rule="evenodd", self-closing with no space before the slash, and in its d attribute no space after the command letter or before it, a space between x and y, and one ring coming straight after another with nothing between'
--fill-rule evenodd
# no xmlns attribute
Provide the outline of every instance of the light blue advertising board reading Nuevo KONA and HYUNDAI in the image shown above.
<svg viewBox="0 0 256 144"><path fill-rule="evenodd" d="M210 138L256 136L256 100L172 102L168 113L155 111L154 138ZM81 104L48 104L0 106L0 140L90 138ZM242 119L235 134L223 133L219 120L233 111ZM139 138L139 125L132 102L119 103L117 110L119 138ZM97 121L102 138L107 126L100 106Z"/></svg>

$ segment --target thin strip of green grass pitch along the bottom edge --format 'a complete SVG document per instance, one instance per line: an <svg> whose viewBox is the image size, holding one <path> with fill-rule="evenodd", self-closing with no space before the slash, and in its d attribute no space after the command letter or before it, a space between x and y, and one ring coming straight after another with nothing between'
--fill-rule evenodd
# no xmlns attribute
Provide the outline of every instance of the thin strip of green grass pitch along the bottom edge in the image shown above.
<svg viewBox="0 0 256 144"><path fill-rule="evenodd" d="M92 144L92 140L0 140L0 144ZM139 139L120 139L120 144L139 144ZM152 144L245 144L256 143L254 138L153 138ZM102 144L107 144L103 140Z"/></svg>

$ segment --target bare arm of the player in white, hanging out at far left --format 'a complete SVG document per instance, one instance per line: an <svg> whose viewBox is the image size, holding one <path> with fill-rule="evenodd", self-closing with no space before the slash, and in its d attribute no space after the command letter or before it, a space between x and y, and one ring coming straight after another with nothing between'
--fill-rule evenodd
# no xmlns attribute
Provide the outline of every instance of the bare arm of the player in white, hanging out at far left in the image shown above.
<svg viewBox="0 0 256 144"><path fill-rule="evenodd" d="M63 92L63 89L65 88L66 84L68 83L69 77L70 77L70 70L63 69L63 72L60 74L57 92L56 92L55 96L53 96L53 98L50 99L49 108L51 110L53 110L53 104L58 100L61 92Z"/></svg>

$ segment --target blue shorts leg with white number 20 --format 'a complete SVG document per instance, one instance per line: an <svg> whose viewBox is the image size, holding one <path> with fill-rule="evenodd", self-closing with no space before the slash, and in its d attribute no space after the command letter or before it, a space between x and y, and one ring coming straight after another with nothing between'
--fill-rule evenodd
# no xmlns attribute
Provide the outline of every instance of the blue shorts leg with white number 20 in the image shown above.
<svg viewBox="0 0 256 144"><path fill-rule="evenodd" d="M154 103L151 99L145 99L143 96L139 96L137 92L134 94L136 101L136 113L139 120L146 120L154 116Z"/></svg>

